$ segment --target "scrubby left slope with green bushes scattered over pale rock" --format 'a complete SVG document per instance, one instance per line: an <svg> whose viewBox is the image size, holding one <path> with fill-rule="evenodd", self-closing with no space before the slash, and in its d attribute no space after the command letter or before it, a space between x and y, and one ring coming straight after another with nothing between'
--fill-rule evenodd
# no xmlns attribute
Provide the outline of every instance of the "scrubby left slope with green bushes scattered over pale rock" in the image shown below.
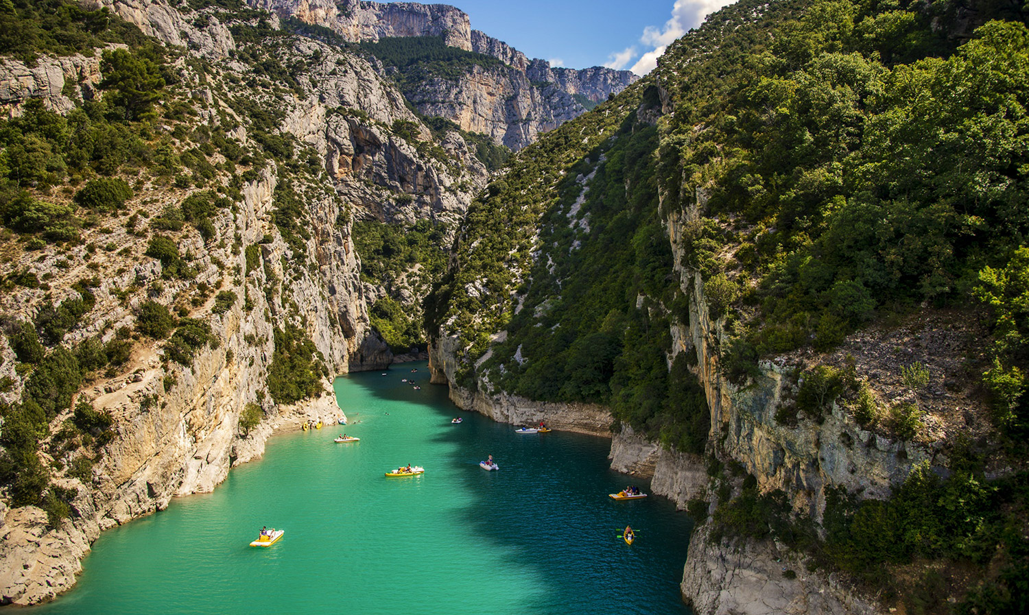
<svg viewBox="0 0 1029 615"><path fill-rule="evenodd" d="M185 4L179 10L192 14ZM61 481L93 484L94 467L120 430L82 390L140 371L147 349L158 352L164 386L139 400L140 412L164 405L198 356L220 352L232 364L233 350L220 348L212 328L226 313L274 320L269 338L241 333L244 348L271 354L243 432L277 403L321 395L329 375L290 287L318 285L311 204L326 204L348 231L352 212L318 152L281 130L289 103L313 87L301 75L327 47L301 51L303 39L271 29L256 20L267 13L241 2L207 11L196 16L201 27L217 14L240 35L235 60L221 69L144 36L106 8L0 4L0 53L30 66L81 53L73 61L95 58L101 75L92 85L65 82L72 108L64 114L29 100L0 119L0 288L19 297L5 299L0 315L11 350L0 359L10 374L0 379L7 400L0 402L0 482L11 506L41 506L55 527L77 514L69 504L77 492ZM205 89L217 102L197 94ZM375 125L366 115L362 121ZM244 245L243 191L270 179L271 226ZM153 279L144 277L150 263ZM143 273L133 279L132 270ZM122 314L128 324L105 320ZM328 320L342 326L335 314Z"/></svg>

